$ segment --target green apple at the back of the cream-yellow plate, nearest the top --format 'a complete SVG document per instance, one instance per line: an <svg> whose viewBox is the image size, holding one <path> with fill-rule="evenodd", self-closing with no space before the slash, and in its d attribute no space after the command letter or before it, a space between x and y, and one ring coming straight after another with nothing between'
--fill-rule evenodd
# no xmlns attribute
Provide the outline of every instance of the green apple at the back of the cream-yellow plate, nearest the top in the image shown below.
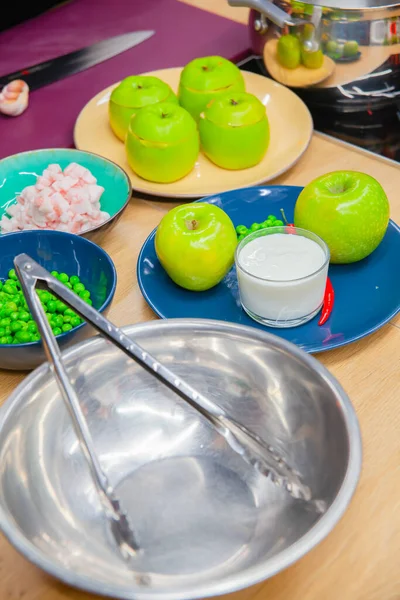
<svg viewBox="0 0 400 600"><path fill-rule="evenodd" d="M198 120L207 104L224 92L244 92L240 69L222 56L195 58L182 70L179 103Z"/></svg>

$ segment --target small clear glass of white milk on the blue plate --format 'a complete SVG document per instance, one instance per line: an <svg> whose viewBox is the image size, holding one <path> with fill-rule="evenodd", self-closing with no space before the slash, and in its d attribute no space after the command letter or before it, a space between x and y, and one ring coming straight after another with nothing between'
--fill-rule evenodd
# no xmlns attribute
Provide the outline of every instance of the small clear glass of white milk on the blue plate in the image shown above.
<svg viewBox="0 0 400 600"><path fill-rule="evenodd" d="M243 309L269 327L307 323L322 307L329 258L325 242L299 227L251 233L235 255Z"/></svg>

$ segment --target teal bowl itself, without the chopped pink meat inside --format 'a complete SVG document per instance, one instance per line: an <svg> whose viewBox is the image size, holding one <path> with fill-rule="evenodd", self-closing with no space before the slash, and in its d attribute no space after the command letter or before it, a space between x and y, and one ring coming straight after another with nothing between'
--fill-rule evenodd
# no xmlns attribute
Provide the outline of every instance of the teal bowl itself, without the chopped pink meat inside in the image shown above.
<svg viewBox="0 0 400 600"><path fill-rule="evenodd" d="M41 175L49 164L56 163L65 169L71 162L89 169L96 177L98 185L104 188L100 206L101 210L109 213L110 218L101 225L79 234L99 243L121 218L131 198L132 186L128 175L121 167L91 152L54 148L21 152L1 160L0 218L5 214L6 209L16 202L16 197L23 188L36 183L36 177Z"/></svg>

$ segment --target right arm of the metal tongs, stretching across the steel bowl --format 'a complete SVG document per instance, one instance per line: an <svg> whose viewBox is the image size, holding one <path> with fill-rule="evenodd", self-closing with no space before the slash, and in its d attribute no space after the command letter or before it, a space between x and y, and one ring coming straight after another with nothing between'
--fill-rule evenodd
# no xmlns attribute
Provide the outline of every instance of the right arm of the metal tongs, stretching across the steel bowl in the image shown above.
<svg viewBox="0 0 400 600"><path fill-rule="evenodd" d="M18 273L28 273L30 278L45 282L59 298L102 333L105 338L113 342L152 376L156 377L201 413L243 460L251 464L260 473L271 476L277 483L284 484L293 497L310 499L310 490L302 484L298 474L287 465L286 461L271 446L266 445L263 440L243 425L236 423L220 406L160 363L154 356L131 340L122 330L69 290L29 256L20 254L15 258L14 264ZM46 326L46 332L48 332L49 326L47 323ZM57 352L59 358L58 348ZM57 365L59 362L62 363L58 360Z"/></svg>

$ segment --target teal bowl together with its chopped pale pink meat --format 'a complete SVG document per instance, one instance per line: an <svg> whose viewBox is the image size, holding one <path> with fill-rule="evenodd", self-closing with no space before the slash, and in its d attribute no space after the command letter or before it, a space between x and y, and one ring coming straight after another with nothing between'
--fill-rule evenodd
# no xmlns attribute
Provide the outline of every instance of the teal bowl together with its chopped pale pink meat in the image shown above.
<svg viewBox="0 0 400 600"><path fill-rule="evenodd" d="M0 234L52 230L99 243L132 194L128 175L112 161L55 148L0 161Z"/></svg>

